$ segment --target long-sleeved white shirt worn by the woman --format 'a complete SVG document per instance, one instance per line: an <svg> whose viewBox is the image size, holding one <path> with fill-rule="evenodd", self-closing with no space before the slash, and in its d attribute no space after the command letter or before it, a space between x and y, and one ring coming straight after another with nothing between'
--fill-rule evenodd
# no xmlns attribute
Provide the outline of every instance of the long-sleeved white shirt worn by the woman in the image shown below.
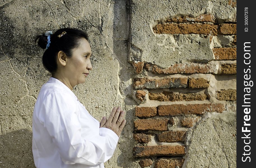
<svg viewBox="0 0 256 168"><path fill-rule="evenodd" d="M50 77L39 92L32 117L32 151L37 168L104 168L119 137L99 127L61 81Z"/></svg>

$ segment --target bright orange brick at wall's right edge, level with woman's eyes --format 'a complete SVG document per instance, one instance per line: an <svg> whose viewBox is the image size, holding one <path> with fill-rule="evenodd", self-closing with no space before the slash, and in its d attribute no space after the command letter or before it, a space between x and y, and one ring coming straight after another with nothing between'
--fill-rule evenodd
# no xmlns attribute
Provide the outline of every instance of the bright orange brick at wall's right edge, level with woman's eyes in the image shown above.
<svg viewBox="0 0 256 168"><path fill-rule="evenodd" d="M236 60L236 48L213 48L215 60Z"/></svg>

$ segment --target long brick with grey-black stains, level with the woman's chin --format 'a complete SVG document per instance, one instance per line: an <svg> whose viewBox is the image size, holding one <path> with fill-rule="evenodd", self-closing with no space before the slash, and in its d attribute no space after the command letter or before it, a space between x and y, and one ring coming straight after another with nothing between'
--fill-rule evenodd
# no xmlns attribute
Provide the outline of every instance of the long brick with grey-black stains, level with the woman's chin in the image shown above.
<svg viewBox="0 0 256 168"><path fill-rule="evenodd" d="M154 88L186 88L188 78L165 78L148 79L135 78L133 82L134 89L154 89Z"/></svg>

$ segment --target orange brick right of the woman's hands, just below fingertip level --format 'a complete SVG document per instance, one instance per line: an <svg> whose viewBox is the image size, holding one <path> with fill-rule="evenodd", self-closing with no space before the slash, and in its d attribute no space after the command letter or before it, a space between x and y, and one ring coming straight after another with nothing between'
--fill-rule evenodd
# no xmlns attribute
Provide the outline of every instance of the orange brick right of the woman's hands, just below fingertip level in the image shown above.
<svg viewBox="0 0 256 168"><path fill-rule="evenodd" d="M168 119L139 119L134 121L134 130L167 131Z"/></svg>

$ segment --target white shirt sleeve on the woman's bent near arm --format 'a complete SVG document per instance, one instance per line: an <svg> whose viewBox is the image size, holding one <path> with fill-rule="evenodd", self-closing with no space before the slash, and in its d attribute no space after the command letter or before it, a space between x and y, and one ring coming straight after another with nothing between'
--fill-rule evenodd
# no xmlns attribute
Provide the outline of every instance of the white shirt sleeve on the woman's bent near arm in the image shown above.
<svg viewBox="0 0 256 168"><path fill-rule="evenodd" d="M69 98L70 95L60 94L50 94L45 101L44 127L57 146L64 164L97 165L106 162L117 146L117 134L111 129L100 128L99 135L83 139L82 127L76 115L77 100Z"/></svg>

